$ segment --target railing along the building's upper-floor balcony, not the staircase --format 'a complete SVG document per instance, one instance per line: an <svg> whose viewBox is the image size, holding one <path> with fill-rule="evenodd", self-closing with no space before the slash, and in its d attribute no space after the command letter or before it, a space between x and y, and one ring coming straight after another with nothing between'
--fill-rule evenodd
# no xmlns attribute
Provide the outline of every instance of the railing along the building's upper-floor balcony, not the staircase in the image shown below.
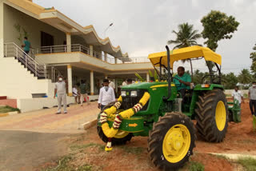
<svg viewBox="0 0 256 171"><path fill-rule="evenodd" d="M61 46L42 46L35 50L36 54L54 54L54 53L66 53L66 52L82 52L84 54L93 54L93 57L101 59L104 62L108 62L110 64L116 63L142 63L142 62L150 62L150 60L146 57L140 58L117 58L110 56L110 54L105 57L104 53L93 51L90 53L90 49L86 46L82 46L80 44L74 44L71 46L61 45Z"/></svg>

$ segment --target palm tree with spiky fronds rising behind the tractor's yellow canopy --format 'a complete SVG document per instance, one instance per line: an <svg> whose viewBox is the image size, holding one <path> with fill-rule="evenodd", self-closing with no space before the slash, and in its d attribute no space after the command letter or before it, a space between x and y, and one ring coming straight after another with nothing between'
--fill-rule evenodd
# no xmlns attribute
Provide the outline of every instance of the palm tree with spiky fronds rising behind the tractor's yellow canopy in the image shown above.
<svg viewBox="0 0 256 171"><path fill-rule="evenodd" d="M198 44L198 38L202 35L198 34L198 30L193 29L193 25L189 25L187 22L178 25L178 32L173 30L172 33L176 34L175 40L170 40L168 44L175 44L174 49L188 47L188 46L201 46Z"/></svg>

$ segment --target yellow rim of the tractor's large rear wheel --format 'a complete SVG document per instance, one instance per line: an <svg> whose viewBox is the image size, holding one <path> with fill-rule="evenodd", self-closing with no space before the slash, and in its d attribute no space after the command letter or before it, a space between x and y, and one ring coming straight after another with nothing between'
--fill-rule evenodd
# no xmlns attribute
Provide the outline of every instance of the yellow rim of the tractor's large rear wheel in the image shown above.
<svg viewBox="0 0 256 171"><path fill-rule="evenodd" d="M223 101L218 101L215 110L215 121L219 131L222 131L226 125L226 108Z"/></svg>

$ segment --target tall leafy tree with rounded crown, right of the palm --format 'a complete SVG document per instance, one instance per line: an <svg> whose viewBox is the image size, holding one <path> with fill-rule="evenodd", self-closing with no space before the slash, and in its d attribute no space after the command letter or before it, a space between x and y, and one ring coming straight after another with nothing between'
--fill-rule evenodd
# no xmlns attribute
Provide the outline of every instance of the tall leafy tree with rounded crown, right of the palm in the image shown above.
<svg viewBox="0 0 256 171"><path fill-rule="evenodd" d="M202 38L206 38L206 44L211 50L216 50L218 41L232 38L232 33L238 30L239 22L233 16L227 16L218 10L211 10L201 20L203 30Z"/></svg>

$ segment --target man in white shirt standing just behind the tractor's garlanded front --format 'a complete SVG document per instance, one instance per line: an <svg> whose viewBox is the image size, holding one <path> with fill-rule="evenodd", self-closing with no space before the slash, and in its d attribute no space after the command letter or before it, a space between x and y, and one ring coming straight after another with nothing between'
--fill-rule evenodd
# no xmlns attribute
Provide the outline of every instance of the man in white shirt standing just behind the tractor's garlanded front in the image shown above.
<svg viewBox="0 0 256 171"><path fill-rule="evenodd" d="M104 86L99 90L98 109L103 109L105 105L115 101L114 89L109 86L109 80L104 79L103 85Z"/></svg>

